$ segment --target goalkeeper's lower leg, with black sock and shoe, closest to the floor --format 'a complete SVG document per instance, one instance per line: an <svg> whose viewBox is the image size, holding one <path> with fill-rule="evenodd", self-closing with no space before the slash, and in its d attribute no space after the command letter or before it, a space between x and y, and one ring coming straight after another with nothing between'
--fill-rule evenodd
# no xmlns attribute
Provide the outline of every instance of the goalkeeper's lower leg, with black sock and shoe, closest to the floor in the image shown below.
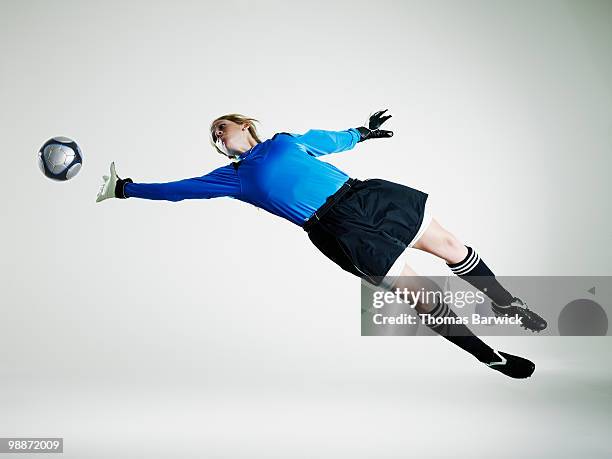
<svg viewBox="0 0 612 459"><path fill-rule="evenodd" d="M421 295L419 302L415 305L424 323L431 330L469 352L490 368L512 378L528 378L535 370L533 362L496 351L474 335L443 301L444 292L440 286L428 277L418 276L410 266L404 266L401 276L396 278L389 289L393 291L399 289L400 294L428 292L429 296L424 298Z"/></svg>

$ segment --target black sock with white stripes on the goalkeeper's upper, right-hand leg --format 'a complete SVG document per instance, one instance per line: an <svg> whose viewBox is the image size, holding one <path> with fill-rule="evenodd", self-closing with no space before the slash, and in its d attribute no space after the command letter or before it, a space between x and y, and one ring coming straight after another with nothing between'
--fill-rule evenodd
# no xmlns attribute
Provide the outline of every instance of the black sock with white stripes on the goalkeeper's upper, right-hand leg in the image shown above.
<svg viewBox="0 0 612 459"><path fill-rule="evenodd" d="M447 263L451 271L485 293L495 304L507 306L514 297L495 279L495 274L489 269L478 253L465 246L468 254L459 263Z"/></svg>

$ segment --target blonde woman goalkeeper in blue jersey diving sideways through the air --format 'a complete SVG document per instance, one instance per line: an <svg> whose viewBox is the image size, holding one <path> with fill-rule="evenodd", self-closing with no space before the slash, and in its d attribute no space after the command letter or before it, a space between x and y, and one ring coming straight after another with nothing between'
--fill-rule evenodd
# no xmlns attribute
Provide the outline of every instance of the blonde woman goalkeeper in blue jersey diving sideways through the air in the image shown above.
<svg viewBox="0 0 612 459"><path fill-rule="evenodd" d="M391 117L386 111L370 116L367 127L310 130L303 135L281 132L264 142L255 119L224 115L212 122L210 134L215 149L230 158L230 164L201 177L146 184L120 179L112 163L97 202L108 198L239 199L302 227L323 254L375 286L440 291L431 280L415 277L405 263L406 250L414 247L442 258L452 272L485 292L497 315L517 315L526 328L543 330L544 319L508 293L473 248L431 217L426 193L382 179L353 179L316 159L350 150L365 140L391 137L391 131L380 129ZM435 318L456 317L443 302L421 302L416 309ZM490 348L460 321L430 328L510 377L526 378L535 369L527 359Z"/></svg>

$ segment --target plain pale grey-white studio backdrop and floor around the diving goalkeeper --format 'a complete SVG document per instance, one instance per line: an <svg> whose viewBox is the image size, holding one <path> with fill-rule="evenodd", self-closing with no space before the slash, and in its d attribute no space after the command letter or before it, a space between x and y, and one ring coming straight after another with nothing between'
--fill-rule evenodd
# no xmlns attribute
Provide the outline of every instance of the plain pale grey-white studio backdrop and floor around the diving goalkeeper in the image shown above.
<svg viewBox="0 0 612 459"><path fill-rule="evenodd" d="M95 195L111 160L141 182L223 165L225 113L268 138L389 108L392 139L325 160L428 192L499 275L610 275L611 22L604 1L0 2L0 436L79 458L609 457L609 339L491 338L536 362L510 380L442 338L360 337L359 279L265 211ZM67 183L36 165L57 135L84 152Z"/></svg>

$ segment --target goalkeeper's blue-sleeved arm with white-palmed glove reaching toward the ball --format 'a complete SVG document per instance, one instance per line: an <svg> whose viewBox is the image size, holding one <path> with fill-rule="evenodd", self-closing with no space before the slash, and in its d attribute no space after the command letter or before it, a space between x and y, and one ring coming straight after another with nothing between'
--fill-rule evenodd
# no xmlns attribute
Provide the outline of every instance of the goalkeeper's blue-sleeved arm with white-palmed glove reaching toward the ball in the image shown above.
<svg viewBox="0 0 612 459"><path fill-rule="evenodd" d="M240 180L231 164L220 167L202 177L194 177L167 183L133 183L121 179L111 164L111 175L104 176L96 202L108 198L141 198L165 201L183 199L209 199L221 196L237 197Z"/></svg>

